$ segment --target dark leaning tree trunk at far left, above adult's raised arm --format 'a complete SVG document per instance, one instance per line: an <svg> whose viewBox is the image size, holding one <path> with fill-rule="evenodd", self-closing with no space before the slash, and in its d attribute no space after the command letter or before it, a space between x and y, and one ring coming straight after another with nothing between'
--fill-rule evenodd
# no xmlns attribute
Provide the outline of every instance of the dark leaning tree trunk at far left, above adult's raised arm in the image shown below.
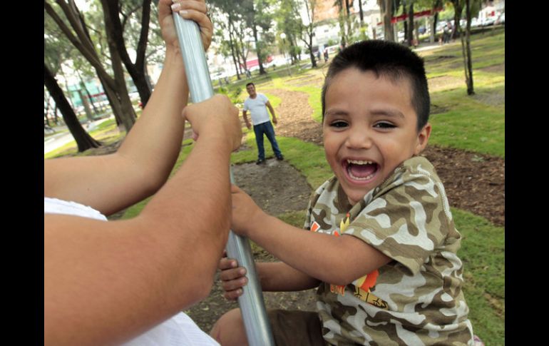
<svg viewBox="0 0 549 346"><path fill-rule="evenodd" d="M48 67L44 63L44 85L48 88L48 91L55 101L56 106L61 110L61 115L63 120L68 127L68 131L71 131L71 134L76 141L78 146L78 152L86 151L89 148L98 148L101 146L101 143L91 138L91 136L82 128L76 114L74 113L71 105L68 104L68 101L63 94L63 91L59 87L56 78L53 77Z"/></svg>

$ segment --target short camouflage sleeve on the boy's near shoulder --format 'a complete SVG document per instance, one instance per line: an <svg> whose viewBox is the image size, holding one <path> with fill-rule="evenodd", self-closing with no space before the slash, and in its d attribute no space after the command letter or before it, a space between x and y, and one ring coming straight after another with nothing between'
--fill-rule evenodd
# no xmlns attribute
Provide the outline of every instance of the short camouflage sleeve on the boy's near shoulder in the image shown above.
<svg viewBox="0 0 549 346"><path fill-rule="evenodd" d="M458 243L460 237L443 185L422 157L405 161L374 189L371 202L344 234L364 240L404 265L410 274L418 273L430 255Z"/></svg>

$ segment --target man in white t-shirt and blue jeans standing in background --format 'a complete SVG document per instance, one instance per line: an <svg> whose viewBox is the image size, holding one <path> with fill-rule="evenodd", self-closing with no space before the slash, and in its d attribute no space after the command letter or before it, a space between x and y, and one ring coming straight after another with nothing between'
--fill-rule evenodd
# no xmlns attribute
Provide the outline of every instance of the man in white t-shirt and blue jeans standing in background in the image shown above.
<svg viewBox="0 0 549 346"><path fill-rule="evenodd" d="M250 121L247 117L247 112L250 111L250 117L252 118L252 123L254 125L255 133L255 143L257 143L257 165L265 162L265 148L263 147L263 135L267 136L267 139L271 142L272 151L275 153L277 160L284 160L282 152L278 148L277 139L275 138L275 128L272 127L271 120L269 118L269 113L267 113L267 108L272 114L272 122L278 123L277 116L275 115L275 109L272 108L271 103L267 96L262 93L256 93L255 84L247 83L246 91L250 97L246 98L244 101L244 108L242 109L242 116L246 122L248 129L252 128Z"/></svg>

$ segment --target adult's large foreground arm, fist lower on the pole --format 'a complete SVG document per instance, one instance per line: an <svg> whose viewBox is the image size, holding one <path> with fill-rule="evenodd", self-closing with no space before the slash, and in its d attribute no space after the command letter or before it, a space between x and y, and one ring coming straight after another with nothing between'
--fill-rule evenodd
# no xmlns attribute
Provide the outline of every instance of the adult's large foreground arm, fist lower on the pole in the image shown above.
<svg viewBox="0 0 549 346"><path fill-rule="evenodd" d="M237 114L226 96L185 108L195 147L138 217L44 215L44 345L120 343L208 295L230 225Z"/></svg>

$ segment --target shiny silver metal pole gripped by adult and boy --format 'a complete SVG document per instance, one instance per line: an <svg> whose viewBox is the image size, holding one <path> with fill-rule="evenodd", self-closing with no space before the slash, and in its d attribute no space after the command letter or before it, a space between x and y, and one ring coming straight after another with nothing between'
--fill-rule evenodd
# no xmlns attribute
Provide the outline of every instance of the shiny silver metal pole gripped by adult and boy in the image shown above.
<svg viewBox="0 0 549 346"><path fill-rule="evenodd" d="M173 20L185 64L190 98L194 103L205 101L211 98L214 93L204 47L200 39L200 29L194 21L183 19L179 14L173 14ZM234 183L232 171L230 171L230 181ZM238 297L238 303L248 343L250 346L275 346L263 303L262 290L255 273L252 250L247 238L237 235L231 230L227 241L227 255L230 258L235 258L238 264L247 270L248 284L243 288L243 294Z"/></svg>

